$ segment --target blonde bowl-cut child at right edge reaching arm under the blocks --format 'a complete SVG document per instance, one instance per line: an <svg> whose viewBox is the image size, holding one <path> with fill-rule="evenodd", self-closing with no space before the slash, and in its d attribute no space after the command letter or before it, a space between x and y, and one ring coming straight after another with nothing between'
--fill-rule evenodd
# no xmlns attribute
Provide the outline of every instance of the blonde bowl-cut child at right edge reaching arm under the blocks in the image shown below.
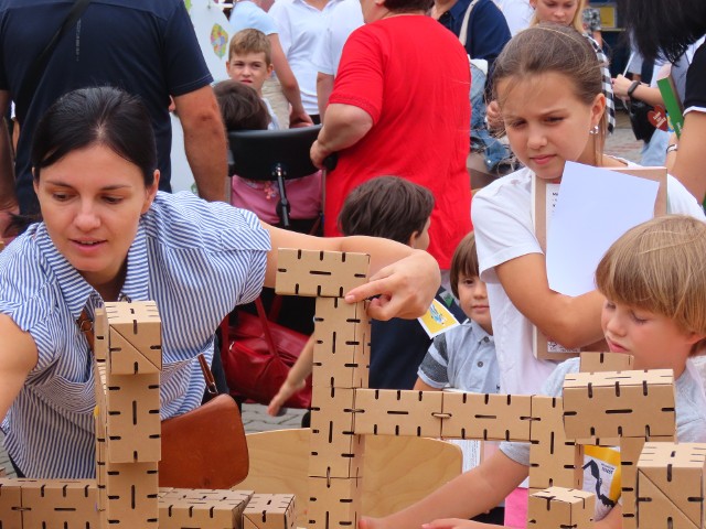
<svg viewBox="0 0 706 529"><path fill-rule="evenodd" d="M676 436L682 443L706 441L706 399L691 357L706 341L706 225L692 217L666 215L637 226L608 250L596 271L606 296L601 327L613 353L633 355L634 369L673 369L676 389ZM543 387L559 397L567 374L579 359L560 364ZM585 465L584 489L595 490ZM530 444L502 443L500 451L471 472L449 482L409 508L384 519L363 519L360 529L452 529L484 527L468 517L483 512L505 497L528 473ZM600 467L600 465L599 465ZM601 473L601 496L612 475ZM616 487L620 490L619 487ZM618 498L596 501L595 528L619 528ZM607 505L607 504L612 504ZM441 517L453 519L437 519Z"/></svg>

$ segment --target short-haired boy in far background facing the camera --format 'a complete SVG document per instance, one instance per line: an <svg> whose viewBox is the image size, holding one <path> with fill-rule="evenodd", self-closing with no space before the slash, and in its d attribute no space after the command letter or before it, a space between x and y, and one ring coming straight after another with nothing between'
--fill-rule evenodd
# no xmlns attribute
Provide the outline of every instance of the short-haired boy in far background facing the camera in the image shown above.
<svg viewBox="0 0 706 529"><path fill-rule="evenodd" d="M269 130L279 130L279 121L263 97L263 85L272 73L272 47L265 33L258 30L238 31L228 46L228 62L225 63L228 77L255 88L269 114Z"/></svg>

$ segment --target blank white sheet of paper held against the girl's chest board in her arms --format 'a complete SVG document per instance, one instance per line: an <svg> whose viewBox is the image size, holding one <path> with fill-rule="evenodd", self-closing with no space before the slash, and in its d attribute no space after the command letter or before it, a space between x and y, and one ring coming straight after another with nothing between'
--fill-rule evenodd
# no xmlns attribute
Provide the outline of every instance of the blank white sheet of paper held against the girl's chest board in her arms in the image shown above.
<svg viewBox="0 0 706 529"><path fill-rule="evenodd" d="M654 216L659 187L646 179L566 162L547 234L549 288L566 295L593 290L596 268L610 245Z"/></svg>

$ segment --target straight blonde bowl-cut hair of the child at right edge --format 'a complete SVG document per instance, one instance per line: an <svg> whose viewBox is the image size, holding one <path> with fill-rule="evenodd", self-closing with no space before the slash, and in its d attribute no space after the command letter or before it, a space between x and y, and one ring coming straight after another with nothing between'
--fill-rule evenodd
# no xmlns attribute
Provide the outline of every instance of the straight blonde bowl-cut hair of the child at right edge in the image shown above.
<svg viewBox="0 0 706 529"><path fill-rule="evenodd" d="M706 334L706 224L665 215L635 226L603 256L596 285L613 302L666 316L685 333Z"/></svg>

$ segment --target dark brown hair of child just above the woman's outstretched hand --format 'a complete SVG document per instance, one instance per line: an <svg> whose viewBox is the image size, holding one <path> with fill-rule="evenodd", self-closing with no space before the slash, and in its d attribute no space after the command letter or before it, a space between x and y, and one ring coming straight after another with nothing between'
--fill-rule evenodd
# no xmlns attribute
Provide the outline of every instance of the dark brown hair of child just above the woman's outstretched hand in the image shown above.
<svg viewBox="0 0 706 529"><path fill-rule="evenodd" d="M398 176L378 176L355 187L339 214L343 235L367 235L408 245L434 209L429 190Z"/></svg>

